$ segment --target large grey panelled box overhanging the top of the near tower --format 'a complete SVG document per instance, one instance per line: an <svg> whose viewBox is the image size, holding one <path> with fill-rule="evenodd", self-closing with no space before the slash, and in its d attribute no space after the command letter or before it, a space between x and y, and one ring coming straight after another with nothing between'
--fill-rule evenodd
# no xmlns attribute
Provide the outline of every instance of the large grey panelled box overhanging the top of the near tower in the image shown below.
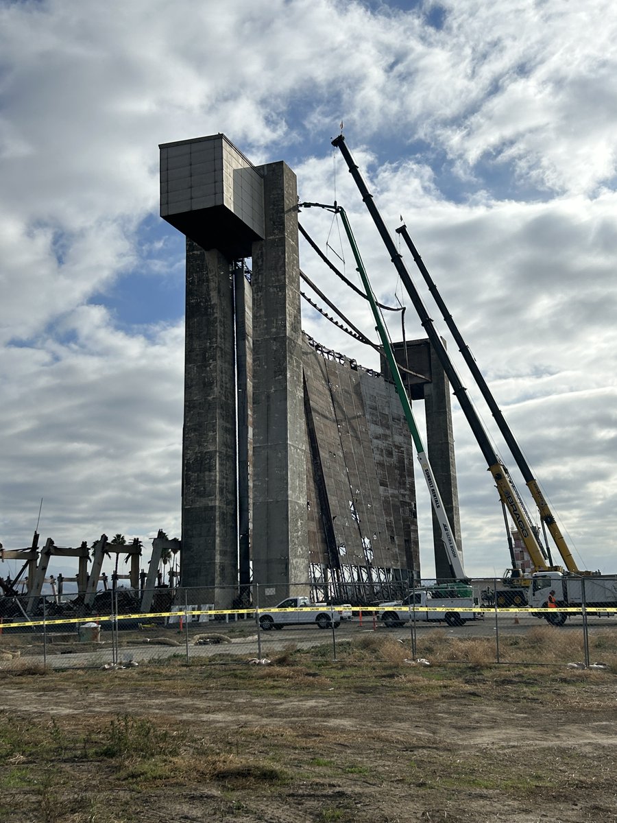
<svg viewBox="0 0 617 823"><path fill-rule="evenodd" d="M160 216L202 249L250 257L265 236L262 174L224 134L164 143Z"/></svg>

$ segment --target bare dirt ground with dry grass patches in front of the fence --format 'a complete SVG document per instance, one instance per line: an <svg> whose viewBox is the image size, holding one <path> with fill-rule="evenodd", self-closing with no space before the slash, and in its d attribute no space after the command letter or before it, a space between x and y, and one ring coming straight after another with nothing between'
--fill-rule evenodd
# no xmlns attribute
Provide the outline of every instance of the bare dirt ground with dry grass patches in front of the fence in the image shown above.
<svg viewBox="0 0 617 823"><path fill-rule="evenodd" d="M6 823L617 820L617 676L356 662L0 677Z"/></svg>

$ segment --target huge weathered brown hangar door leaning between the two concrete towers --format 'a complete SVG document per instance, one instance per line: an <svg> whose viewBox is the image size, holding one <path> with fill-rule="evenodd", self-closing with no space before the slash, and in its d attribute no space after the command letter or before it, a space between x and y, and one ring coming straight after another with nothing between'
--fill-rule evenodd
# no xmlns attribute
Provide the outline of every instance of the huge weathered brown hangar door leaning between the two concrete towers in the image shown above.
<svg viewBox="0 0 617 823"><path fill-rule="evenodd" d="M327 560L317 538L319 522L330 518L341 565L417 570L413 450L396 391L308 344L304 376L318 450L312 467L321 473L308 481L311 561ZM325 506L312 496L320 482Z"/></svg>

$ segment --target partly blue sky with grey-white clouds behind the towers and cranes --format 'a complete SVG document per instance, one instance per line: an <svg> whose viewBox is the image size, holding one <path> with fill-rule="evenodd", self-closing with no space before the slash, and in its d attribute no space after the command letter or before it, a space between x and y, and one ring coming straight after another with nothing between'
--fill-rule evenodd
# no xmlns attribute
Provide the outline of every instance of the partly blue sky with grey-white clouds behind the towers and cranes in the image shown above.
<svg viewBox="0 0 617 823"><path fill-rule="evenodd" d="M225 133L255 164L285 160L302 201L346 208L378 299L409 305L331 145L342 122L579 567L617 573L615 40L605 0L0 0L3 546L30 546L37 523L57 546L180 536L184 241L159 216L160 143ZM357 277L336 219L304 210L300 221ZM368 305L304 243L300 266L376 340ZM425 337L405 314L406 337ZM303 327L377 367L306 303ZM452 408L466 572L501 574L499 500ZM0 575L14 570L0 563ZM60 561L49 571L71 573Z"/></svg>

